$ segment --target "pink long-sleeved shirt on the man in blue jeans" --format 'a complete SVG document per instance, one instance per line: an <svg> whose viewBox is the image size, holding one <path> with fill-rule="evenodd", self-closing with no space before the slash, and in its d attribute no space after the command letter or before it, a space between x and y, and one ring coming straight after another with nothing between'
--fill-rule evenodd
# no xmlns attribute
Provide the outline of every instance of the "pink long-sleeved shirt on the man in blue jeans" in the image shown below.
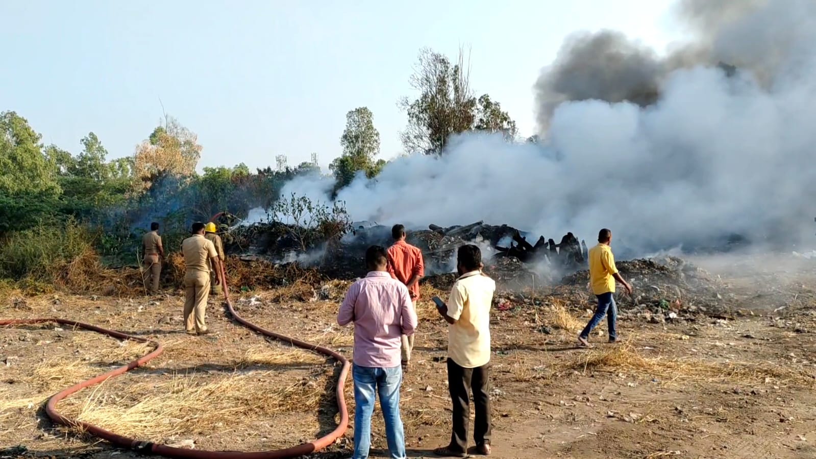
<svg viewBox="0 0 816 459"><path fill-rule="evenodd" d="M405 284L371 271L348 288L337 323L354 323L354 364L394 368L401 361L401 335L413 335L416 312Z"/></svg>

